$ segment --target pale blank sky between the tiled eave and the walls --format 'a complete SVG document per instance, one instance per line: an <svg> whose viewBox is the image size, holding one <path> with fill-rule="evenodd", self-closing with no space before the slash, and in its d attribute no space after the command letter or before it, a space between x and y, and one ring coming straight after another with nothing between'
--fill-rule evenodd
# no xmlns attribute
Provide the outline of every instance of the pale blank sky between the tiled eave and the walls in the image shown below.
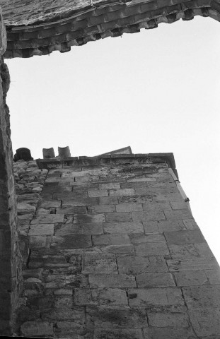
<svg viewBox="0 0 220 339"><path fill-rule="evenodd" d="M173 152L197 224L220 263L220 29L161 23L50 56L8 59L13 153Z"/></svg>

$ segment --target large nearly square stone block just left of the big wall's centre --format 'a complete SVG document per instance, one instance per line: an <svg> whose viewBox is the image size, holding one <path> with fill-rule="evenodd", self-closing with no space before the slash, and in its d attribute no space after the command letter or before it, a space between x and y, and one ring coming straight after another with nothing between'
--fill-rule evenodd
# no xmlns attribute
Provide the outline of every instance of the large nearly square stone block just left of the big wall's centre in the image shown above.
<svg viewBox="0 0 220 339"><path fill-rule="evenodd" d="M84 254L83 270L85 273L117 273L115 256Z"/></svg>

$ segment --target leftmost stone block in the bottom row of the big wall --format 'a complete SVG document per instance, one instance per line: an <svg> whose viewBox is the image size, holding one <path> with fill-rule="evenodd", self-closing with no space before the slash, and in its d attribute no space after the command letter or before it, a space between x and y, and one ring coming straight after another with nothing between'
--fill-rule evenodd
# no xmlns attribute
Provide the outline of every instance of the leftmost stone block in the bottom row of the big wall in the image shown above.
<svg viewBox="0 0 220 339"><path fill-rule="evenodd" d="M21 334L24 337L53 336L53 324L47 321L25 321L21 325Z"/></svg>

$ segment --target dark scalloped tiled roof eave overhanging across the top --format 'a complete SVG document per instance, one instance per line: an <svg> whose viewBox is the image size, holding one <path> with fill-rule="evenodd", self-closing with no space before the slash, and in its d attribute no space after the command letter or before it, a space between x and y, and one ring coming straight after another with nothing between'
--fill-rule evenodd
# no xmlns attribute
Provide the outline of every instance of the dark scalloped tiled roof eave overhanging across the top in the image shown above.
<svg viewBox="0 0 220 339"><path fill-rule="evenodd" d="M38 16L34 16L34 12L31 16L29 12L29 16L21 16L21 20L16 10L11 15L8 5L2 4L8 40L4 57L27 58L57 50L69 52L72 46L139 32L141 28L156 28L159 23L174 23L180 18L192 20L195 16L209 16L220 21L220 0L67 2L69 6L57 11L50 8L50 11L40 11Z"/></svg>

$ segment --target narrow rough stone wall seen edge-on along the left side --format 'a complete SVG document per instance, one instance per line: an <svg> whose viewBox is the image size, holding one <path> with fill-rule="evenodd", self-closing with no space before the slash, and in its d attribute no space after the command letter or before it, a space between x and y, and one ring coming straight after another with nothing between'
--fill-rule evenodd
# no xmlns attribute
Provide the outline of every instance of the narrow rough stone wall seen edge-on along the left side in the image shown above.
<svg viewBox="0 0 220 339"><path fill-rule="evenodd" d="M6 30L0 13L0 54L6 49ZM21 290L21 255L18 249L16 194L6 93L10 78L0 55L0 333L11 335L13 311Z"/></svg>

